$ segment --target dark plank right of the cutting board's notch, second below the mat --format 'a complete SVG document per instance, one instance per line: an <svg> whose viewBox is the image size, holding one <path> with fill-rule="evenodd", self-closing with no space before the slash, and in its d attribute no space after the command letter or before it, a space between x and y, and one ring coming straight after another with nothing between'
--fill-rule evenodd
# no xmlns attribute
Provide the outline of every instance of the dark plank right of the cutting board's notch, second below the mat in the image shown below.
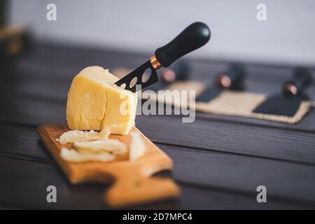
<svg viewBox="0 0 315 224"><path fill-rule="evenodd" d="M248 194L262 185L266 186L269 198L315 206L315 167L158 145L174 160L173 175L179 183Z"/></svg>

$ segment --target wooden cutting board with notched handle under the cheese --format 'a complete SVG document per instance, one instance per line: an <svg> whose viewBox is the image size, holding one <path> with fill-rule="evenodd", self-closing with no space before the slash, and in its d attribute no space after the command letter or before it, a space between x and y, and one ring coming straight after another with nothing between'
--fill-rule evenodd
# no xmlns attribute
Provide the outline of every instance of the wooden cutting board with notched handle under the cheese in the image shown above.
<svg viewBox="0 0 315 224"><path fill-rule="evenodd" d="M41 125L37 128L43 144L71 183L113 182L105 194L106 203L110 207L125 207L179 196L179 187L172 179L151 177L156 172L172 169L173 162L136 127L131 132L141 134L147 150L143 157L134 161L128 160L126 154L111 162L66 162L60 158L62 145L56 139L68 131L65 124ZM132 140L130 134L111 134L109 138L118 139L127 146Z"/></svg>

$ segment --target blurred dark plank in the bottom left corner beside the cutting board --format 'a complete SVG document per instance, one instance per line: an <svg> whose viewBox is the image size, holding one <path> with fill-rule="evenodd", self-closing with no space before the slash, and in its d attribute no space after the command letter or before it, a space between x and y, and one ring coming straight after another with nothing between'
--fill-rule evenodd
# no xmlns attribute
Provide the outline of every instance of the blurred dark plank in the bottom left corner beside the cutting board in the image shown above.
<svg viewBox="0 0 315 224"><path fill-rule="evenodd" d="M0 158L0 202L35 209L100 209L103 186L73 187L55 165ZM48 203L48 186L56 186L57 203Z"/></svg>

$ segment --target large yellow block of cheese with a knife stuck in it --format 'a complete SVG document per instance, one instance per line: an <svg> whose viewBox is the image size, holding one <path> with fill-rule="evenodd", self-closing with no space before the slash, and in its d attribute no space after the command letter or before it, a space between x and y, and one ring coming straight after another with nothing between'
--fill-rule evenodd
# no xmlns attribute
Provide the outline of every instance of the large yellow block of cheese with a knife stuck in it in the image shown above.
<svg viewBox="0 0 315 224"><path fill-rule="evenodd" d="M71 130L103 130L128 134L137 111L137 94L114 83L108 69L90 66L73 78L66 102L66 120Z"/></svg>

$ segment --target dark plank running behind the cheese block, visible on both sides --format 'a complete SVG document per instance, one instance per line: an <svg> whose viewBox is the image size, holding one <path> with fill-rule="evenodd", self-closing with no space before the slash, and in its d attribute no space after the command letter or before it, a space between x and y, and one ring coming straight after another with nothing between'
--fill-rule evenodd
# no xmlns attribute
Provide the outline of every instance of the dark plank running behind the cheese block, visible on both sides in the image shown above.
<svg viewBox="0 0 315 224"><path fill-rule="evenodd" d="M2 105L6 105L0 111L2 122L65 123L64 104L8 99ZM182 123L178 116L137 116L137 127L158 143L315 164L314 133L216 120Z"/></svg>

